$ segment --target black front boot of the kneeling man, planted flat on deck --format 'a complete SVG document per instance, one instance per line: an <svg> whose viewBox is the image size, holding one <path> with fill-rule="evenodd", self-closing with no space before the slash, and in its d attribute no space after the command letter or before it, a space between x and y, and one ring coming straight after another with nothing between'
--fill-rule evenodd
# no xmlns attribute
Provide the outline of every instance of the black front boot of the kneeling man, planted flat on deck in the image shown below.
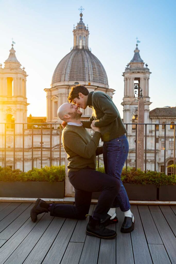
<svg viewBox="0 0 176 264"><path fill-rule="evenodd" d="M89 223L86 227L86 234L92 237L103 239L112 239L117 235L116 231L105 228L103 225L101 225L100 219L93 219L92 216L89 216Z"/></svg>

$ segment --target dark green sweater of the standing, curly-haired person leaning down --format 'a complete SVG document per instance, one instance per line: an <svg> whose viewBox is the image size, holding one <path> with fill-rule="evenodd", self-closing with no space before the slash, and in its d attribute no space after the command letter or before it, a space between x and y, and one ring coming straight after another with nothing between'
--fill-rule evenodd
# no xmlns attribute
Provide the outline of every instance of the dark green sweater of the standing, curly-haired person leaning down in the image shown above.
<svg viewBox="0 0 176 264"><path fill-rule="evenodd" d="M95 126L100 128L102 141L118 138L127 132L117 107L106 93L90 92L87 105L92 108L92 116L89 121L81 122L85 128L91 128L92 121L96 120Z"/></svg>

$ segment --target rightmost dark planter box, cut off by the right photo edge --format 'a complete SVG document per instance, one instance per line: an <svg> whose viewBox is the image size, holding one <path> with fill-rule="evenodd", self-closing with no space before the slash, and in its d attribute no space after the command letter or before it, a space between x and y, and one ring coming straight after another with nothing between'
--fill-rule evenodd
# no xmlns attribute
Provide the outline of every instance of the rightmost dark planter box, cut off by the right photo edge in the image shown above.
<svg viewBox="0 0 176 264"><path fill-rule="evenodd" d="M160 201L176 201L176 185L163 185L159 188Z"/></svg>

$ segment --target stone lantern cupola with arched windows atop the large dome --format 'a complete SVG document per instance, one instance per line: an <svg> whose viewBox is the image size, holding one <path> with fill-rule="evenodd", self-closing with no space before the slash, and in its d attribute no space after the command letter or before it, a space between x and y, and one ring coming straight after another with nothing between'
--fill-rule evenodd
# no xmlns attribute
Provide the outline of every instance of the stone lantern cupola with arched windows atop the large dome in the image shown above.
<svg viewBox="0 0 176 264"><path fill-rule="evenodd" d="M89 49L88 26L86 28L85 24L83 23L82 17L83 17L83 14L80 13L80 21L79 21L79 23L77 23L77 26L74 27L74 29L73 29L73 35L74 35L74 47L73 47L73 49Z"/></svg>

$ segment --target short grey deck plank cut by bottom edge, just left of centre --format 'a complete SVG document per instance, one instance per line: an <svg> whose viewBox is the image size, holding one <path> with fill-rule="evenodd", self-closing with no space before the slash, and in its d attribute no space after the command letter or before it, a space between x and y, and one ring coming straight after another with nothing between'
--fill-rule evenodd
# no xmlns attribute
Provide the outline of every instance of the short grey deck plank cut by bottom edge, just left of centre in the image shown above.
<svg viewBox="0 0 176 264"><path fill-rule="evenodd" d="M84 243L69 242L60 264L78 264Z"/></svg>

